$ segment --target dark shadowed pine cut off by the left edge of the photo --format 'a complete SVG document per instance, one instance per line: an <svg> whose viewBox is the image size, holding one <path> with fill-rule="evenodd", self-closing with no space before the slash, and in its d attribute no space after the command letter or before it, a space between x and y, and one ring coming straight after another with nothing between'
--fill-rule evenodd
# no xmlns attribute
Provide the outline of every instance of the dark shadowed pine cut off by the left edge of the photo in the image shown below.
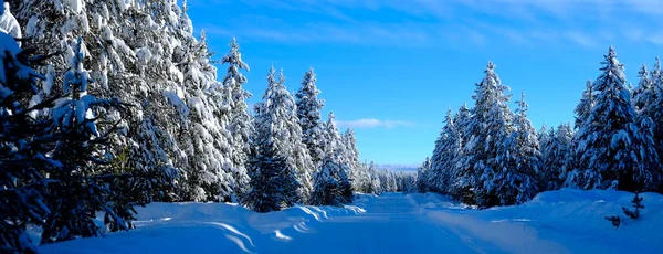
<svg viewBox="0 0 663 254"><path fill-rule="evenodd" d="M0 253L38 252L25 230L43 224L50 212L44 172L61 166L48 157L53 141L46 130L49 120L31 116L50 107L52 99L31 105L39 92L36 78L45 76L31 67L28 60L33 57L28 54L11 35L0 32Z"/></svg>

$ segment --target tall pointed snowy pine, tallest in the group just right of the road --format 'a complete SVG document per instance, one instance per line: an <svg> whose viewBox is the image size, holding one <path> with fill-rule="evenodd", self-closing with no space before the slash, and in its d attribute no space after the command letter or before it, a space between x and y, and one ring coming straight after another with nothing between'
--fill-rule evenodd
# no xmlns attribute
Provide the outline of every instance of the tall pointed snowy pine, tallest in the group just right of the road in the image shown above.
<svg viewBox="0 0 663 254"><path fill-rule="evenodd" d="M460 178L454 187L459 192L453 193L484 208L501 203L496 192L498 186L493 181L499 172L508 170L506 142L514 128L509 96L504 94L508 87L501 83L494 67L488 62L485 77L476 84L472 119L465 129L469 140L463 147Z"/></svg>

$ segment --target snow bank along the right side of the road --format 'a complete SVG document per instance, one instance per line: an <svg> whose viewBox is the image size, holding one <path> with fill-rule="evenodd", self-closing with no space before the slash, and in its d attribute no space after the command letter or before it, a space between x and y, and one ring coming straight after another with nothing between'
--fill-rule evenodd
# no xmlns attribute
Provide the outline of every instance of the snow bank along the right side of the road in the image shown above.
<svg viewBox="0 0 663 254"><path fill-rule="evenodd" d="M641 219L625 218L633 193L562 189L538 194L523 205L459 210L441 203L423 213L451 225L469 243L490 242L508 253L660 253L663 195L643 193ZM614 229L604 216L620 215Z"/></svg>

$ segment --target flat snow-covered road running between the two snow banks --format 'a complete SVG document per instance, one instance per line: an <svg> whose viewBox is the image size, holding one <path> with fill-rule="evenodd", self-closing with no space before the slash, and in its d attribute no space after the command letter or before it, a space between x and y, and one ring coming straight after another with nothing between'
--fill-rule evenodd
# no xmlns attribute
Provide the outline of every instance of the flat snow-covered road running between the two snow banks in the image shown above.
<svg viewBox="0 0 663 254"><path fill-rule="evenodd" d="M325 220L315 233L291 235L273 253L477 253L449 229L427 220L409 197L388 193L366 203L366 213ZM484 247L485 250L485 247Z"/></svg>

